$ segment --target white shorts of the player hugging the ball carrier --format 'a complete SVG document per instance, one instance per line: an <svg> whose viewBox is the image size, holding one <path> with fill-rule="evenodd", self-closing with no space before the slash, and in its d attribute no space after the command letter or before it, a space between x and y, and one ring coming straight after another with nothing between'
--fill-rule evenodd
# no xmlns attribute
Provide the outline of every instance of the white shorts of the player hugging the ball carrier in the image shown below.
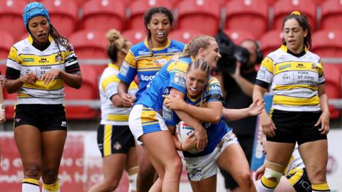
<svg viewBox="0 0 342 192"><path fill-rule="evenodd" d="M142 144L139 137L143 134L168 130L162 116L152 108L143 105L134 105L130 111L128 125L137 144Z"/></svg>

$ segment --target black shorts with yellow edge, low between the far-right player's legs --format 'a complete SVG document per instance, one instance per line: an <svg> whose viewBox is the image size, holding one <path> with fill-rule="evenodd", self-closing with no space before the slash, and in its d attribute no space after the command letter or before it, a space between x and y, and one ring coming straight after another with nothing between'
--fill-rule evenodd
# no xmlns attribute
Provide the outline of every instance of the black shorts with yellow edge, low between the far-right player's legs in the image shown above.
<svg viewBox="0 0 342 192"><path fill-rule="evenodd" d="M286 176L287 180L294 186L297 192L311 192L311 183L309 181L306 169L296 170L294 173L290 173Z"/></svg>

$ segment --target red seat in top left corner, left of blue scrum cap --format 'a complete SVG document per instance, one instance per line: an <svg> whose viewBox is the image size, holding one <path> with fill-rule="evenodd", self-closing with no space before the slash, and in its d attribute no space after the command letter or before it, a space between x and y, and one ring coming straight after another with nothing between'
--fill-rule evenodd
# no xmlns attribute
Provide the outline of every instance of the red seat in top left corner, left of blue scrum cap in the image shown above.
<svg viewBox="0 0 342 192"><path fill-rule="evenodd" d="M26 31L23 21L23 10L26 1L22 0L1 0L0 1L0 23L1 31L7 31L19 39Z"/></svg>

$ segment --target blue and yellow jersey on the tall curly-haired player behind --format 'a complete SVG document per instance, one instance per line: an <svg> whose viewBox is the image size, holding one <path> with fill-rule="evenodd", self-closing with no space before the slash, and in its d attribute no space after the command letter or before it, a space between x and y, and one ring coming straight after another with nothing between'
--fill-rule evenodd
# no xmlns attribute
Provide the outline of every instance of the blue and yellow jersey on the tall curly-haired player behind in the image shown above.
<svg viewBox="0 0 342 192"><path fill-rule="evenodd" d="M184 43L167 39L165 47L152 48L152 55L146 39L130 48L120 68L118 78L130 84L135 75L138 75L139 90L135 95L138 100L160 68L168 63L173 55L182 53L184 48Z"/></svg>

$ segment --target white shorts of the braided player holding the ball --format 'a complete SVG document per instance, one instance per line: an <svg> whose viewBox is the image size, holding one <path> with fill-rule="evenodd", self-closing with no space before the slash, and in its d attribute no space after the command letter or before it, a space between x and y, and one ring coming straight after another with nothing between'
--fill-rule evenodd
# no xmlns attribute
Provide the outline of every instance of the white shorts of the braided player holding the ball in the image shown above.
<svg viewBox="0 0 342 192"><path fill-rule="evenodd" d="M211 154L197 157L185 157L185 169L190 181L201 181L217 174L217 158L222 151L231 144L239 144L237 137L232 131L222 137L221 142L217 144Z"/></svg>

